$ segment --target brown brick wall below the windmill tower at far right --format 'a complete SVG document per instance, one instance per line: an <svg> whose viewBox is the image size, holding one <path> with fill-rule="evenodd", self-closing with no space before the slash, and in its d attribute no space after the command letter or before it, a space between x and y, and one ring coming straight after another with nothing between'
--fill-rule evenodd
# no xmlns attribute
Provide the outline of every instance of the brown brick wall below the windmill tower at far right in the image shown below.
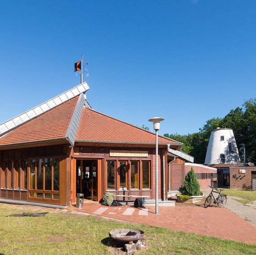
<svg viewBox="0 0 256 255"><path fill-rule="evenodd" d="M242 169L245 173L239 173ZM252 174L255 172L256 167L230 167L230 189L252 190Z"/></svg>

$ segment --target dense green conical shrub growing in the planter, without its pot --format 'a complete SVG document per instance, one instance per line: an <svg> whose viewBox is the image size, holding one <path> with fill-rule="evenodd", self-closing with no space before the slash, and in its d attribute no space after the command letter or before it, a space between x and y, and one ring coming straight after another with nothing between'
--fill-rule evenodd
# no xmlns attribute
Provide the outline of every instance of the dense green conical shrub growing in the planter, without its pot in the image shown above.
<svg viewBox="0 0 256 255"><path fill-rule="evenodd" d="M193 167L186 174L184 182L182 182L179 191L183 195L187 196L199 196L200 193L200 184L197 180L196 174L194 173Z"/></svg>

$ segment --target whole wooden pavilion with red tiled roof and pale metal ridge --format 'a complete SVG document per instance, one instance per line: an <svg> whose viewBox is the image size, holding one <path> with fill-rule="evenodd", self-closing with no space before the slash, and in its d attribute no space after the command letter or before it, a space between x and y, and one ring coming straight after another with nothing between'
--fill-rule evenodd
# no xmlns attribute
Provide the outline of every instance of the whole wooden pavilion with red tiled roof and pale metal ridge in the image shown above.
<svg viewBox="0 0 256 255"><path fill-rule="evenodd" d="M93 110L86 82L0 124L0 202L70 206L155 195L155 134ZM182 143L159 136L159 198L185 177Z"/></svg>

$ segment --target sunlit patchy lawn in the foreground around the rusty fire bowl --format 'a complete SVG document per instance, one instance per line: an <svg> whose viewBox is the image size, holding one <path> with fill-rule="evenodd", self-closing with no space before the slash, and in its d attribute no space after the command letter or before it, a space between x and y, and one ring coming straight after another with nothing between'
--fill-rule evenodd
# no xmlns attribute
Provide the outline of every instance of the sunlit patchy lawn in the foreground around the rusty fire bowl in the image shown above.
<svg viewBox="0 0 256 255"><path fill-rule="evenodd" d="M138 255L256 255L256 246L250 244L60 210L48 210L49 214L44 217L6 217L39 210L47 211L0 204L0 255L111 255L114 249L105 244L109 230L115 228L145 231L147 248L138 251Z"/></svg>

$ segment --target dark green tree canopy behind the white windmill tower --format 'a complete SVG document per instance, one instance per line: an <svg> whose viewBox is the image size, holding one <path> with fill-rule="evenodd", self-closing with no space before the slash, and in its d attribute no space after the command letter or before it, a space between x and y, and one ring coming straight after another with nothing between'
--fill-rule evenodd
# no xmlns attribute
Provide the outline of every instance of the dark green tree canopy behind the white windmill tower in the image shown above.
<svg viewBox="0 0 256 255"><path fill-rule="evenodd" d="M184 143L182 151L194 157L194 162L203 164L206 156L207 146L212 130L230 128L234 131L234 137L242 158L242 144L246 145L247 162L256 163L256 98L244 102L243 107L237 107L223 118L212 118L199 128L198 133L193 134L164 134Z"/></svg>

